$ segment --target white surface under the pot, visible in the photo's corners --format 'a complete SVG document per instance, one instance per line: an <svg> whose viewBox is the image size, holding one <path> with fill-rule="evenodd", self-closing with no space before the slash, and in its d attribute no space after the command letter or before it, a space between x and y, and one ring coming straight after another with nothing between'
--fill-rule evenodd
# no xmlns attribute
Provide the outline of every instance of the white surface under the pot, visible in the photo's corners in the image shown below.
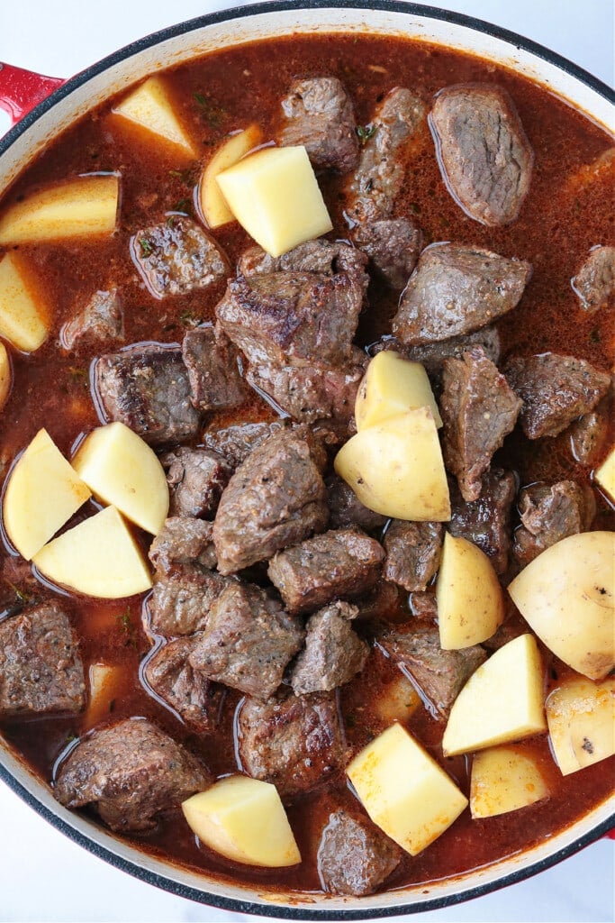
<svg viewBox="0 0 615 923"><path fill-rule="evenodd" d="M433 5L437 0L433 0ZM241 3L235 3L240 6ZM0 0L0 61L69 77L151 31L230 6L224 0ZM546 44L612 84L612 0L440 0ZM0 113L0 135L8 127ZM421 921L612 921L614 844L601 840L528 881ZM254 919L163 893L74 845L0 783L0 921Z"/></svg>

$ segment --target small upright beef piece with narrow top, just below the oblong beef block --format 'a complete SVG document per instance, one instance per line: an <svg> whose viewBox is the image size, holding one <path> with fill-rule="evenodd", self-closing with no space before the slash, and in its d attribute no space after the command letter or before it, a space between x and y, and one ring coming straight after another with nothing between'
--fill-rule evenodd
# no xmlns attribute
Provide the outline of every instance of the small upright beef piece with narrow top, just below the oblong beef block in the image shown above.
<svg viewBox="0 0 615 923"><path fill-rule="evenodd" d="M331 603L310 617L305 647L290 671L295 695L328 692L361 673L370 648L350 626L358 613L356 605Z"/></svg>

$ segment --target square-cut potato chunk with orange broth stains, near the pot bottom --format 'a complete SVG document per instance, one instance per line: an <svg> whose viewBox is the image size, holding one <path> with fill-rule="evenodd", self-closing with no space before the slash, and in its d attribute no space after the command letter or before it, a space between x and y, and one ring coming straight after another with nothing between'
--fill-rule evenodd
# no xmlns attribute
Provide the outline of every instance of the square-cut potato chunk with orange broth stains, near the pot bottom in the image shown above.
<svg viewBox="0 0 615 923"><path fill-rule="evenodd" d="M467 797L401 725L391 725L347 769L363 808L417 856L467 807Z"/></svg>

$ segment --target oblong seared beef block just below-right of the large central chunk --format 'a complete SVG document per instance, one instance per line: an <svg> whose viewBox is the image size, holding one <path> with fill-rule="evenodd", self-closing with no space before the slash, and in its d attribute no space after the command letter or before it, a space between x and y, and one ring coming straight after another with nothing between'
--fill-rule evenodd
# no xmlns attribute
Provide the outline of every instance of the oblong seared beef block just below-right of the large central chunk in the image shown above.
<svg viewBox="0 0 615 923"><path fill-rule="evenodd" d="M382 546L360 530L332 530L278 551L267 573L289 612L313 612L337 597L371 590L383 560Z"/></svg>

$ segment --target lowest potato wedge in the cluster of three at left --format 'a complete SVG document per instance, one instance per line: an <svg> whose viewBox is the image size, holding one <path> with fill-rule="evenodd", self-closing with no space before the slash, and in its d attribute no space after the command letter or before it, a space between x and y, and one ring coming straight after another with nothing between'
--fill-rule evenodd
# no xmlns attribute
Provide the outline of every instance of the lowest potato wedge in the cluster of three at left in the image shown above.
<svg viewBox="0 0 615 923"><path fill-rule="evenodd" d="M32 559L43 577L86 596L120 599L151 588L148 565L115 507L79 522Z"/></svg>

